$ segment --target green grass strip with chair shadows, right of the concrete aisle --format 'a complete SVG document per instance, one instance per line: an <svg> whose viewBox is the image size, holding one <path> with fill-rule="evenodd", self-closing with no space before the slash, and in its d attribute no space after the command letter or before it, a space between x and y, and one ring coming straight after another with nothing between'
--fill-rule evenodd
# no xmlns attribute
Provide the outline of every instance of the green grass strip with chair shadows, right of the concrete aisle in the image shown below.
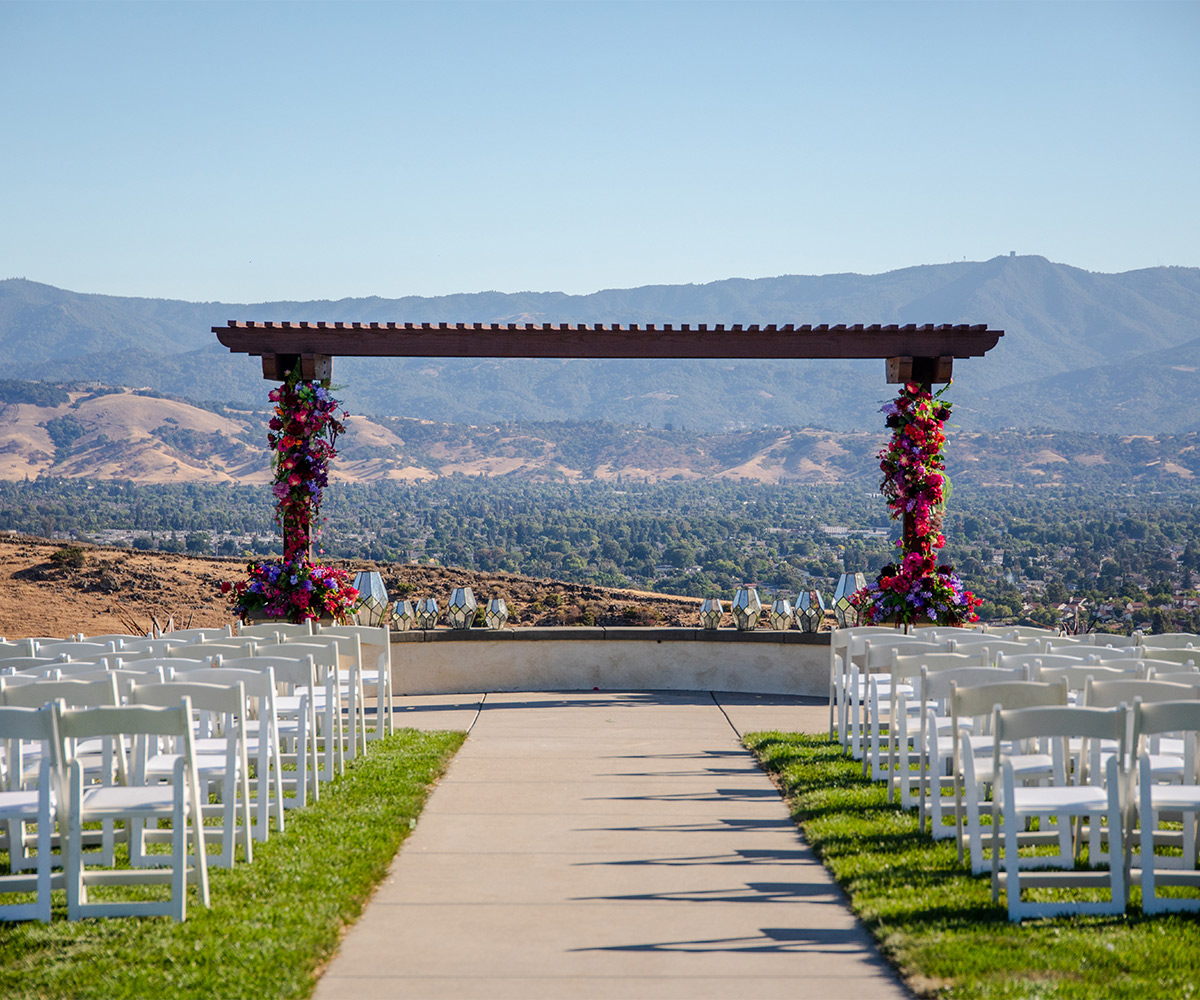
<svg viewBox="0 0 1200 1000"><path fill-rule="evenodd" d="M883 954L922 996L1187 998L1200 983L1200 920L1120 917L1010 924L991 882L959 866L954 840L934 842L888 804L886 785L823 736L745 737L779 782ZM1001 897L1003 904L1003 896Z"/></svg>

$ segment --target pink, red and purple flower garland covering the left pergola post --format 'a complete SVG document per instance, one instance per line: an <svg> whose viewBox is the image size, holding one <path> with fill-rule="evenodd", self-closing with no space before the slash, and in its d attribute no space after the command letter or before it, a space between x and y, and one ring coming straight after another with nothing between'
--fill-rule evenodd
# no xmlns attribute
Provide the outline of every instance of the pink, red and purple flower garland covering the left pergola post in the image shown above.
<svg viewBox="0 0 1200 1000"><path fill-rule="evenodd" d="M275 403L266 442L274 453L271 492L283 533L283 558L252 561L246 567L248 579L222 582L221 592L241 619L332 617L344 622L359 593L344 570L313 563L312 532L348 414L343 411L338 418L337 400L322 383L301 378L299 365L268 397Z"/></svg>

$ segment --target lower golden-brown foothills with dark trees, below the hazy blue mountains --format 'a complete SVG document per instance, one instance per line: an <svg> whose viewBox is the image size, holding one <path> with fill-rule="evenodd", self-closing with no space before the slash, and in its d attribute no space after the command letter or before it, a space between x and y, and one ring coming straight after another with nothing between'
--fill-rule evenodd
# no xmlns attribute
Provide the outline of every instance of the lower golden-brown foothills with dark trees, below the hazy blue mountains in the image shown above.
<svg viewBox="0 0 1200 1000"><path fill-rule="evenodd" d="M0 480L133 483L270 479L268 413L198 407L151 390L62 391L0 381ZM952 429L959 484L1200 483L1200 435ZM875 489L884 432L799 427L702 432L610 421L439 424L352 417L334 477L343 481L488 475L530 480L856 483Z"/></svg>

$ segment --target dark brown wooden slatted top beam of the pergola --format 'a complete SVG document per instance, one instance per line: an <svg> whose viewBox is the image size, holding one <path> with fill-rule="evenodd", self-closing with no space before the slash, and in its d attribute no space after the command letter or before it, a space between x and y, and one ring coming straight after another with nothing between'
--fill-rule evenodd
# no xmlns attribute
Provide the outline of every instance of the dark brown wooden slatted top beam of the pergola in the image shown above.
<svg viewBox="0 0 1200 1000"><path fill-rule="evenodd" d="M586 323L258 323L212 333L234 354L263 359L282 382L301 365L328 379L346 358L882 358L889 383L949 382L955 358L980 358L1003 330L984 325L725 325Z"/></svg>

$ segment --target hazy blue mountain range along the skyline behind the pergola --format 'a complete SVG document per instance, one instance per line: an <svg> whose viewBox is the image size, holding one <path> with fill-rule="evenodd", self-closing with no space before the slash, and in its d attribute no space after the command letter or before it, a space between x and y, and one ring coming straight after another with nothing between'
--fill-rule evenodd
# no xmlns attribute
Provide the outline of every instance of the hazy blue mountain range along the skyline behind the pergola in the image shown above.
<svg viewBox="0 0 1200 1000"><path fill-rule="evenodd" d="M1043 257L929 264L881 275L728 279L707 285L181 303L0 281L7 377L148 387L258 406L252 360L216 343L229 319L572 323L988 323L1006 331L960 361L953 399L972 430L1196 430L1200 269L1094 274ZM872 430L890 395L877 361L355 359L335 363L353 412L445 423L612 420L703 431ZM1097 405L1097 393L1109 402ZM1115 394L1115 395L1114 395ZM1162 395L1159 395L1162 394ZM1165 396L1165 399L1163 399Z"/></svg>

